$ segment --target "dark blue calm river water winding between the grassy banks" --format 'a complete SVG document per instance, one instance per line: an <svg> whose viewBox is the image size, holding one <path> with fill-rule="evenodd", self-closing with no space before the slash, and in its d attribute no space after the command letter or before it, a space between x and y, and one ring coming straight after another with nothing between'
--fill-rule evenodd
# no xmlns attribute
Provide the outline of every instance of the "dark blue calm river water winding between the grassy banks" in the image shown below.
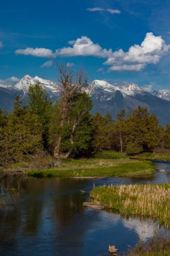
<svg viewBox="0 0 170 256"><path fill-rule="evenodd" d="M155 161L154 165L166 172L138 178L6 179L4 188L14 187L20 193L19 200L0 209L0 255L109 255L109 244L120 253L127 252L138 237L146 241L155 232L169 233L152 220L125 219L112 210L82 206L90 201L94 186L169 182L170 162Z"/></svg>

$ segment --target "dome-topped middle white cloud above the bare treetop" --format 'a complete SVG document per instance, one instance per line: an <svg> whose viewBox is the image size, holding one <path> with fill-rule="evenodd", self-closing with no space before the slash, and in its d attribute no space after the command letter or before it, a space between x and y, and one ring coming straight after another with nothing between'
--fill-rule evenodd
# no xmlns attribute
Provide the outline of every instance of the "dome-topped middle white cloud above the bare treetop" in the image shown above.
<svg viewBox="0 0 170 256"><path fill-rule="evenodd" d="M73 47L56 49L56 55L60 56L95 56L108 58L112 55L112 49L102 49L99 44L94 44L88 37L78 38L76 41L69 41Z"/></svg>

